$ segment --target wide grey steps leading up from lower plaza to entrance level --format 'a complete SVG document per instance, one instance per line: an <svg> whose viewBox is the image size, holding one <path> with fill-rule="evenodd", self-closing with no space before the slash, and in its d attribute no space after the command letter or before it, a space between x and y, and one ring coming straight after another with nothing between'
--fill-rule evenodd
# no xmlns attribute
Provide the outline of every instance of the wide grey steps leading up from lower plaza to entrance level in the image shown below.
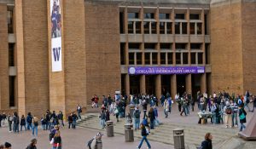
<svg viewBox="0 0 256 149"><path fill-rule="evenodd" d="M110 117L113 120L113 130L114 134L125 134L125 119L120 118L119 123L115 122L115 117ZM97 129L102 132L106 131L105 129L101 129L99 124L100 120L98 117L98 113L88 113L85 114L81 121L78 122L78 126L87 129ZM237 129L224 129L219 126L209 126L209 125L201 125L201 124L188 124L188 123L163 123L159 127L156 127L153 130L150 130L150 134L148 135L148 140L153 140L165 144L174 145L173 142L173 129L184 129L184 138L185 144L188 148L196 148L195 146L200 146L201 141L204 140L204 135L207 132L212 133L213 146L218 146L224 142L224 140L228 140L231 137L237 135ZM134 136L136 138L142 138L141 131L134 131ZM124 137L125 138L125 137ZM216 148L216 147L214 147Z"/></svg>

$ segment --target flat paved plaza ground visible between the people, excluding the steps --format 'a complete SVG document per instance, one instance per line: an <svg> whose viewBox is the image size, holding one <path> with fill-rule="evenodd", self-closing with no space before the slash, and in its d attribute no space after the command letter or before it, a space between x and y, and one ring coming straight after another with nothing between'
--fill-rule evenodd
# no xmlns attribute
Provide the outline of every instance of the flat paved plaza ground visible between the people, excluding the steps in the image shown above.
<svg viewBox="0 0 256 149"><path fill-rule="evenodd" d="M161 122L165 123L187 123L190 125L196 125L198 124L198 116L197 116L197 108L195 106L195 112L190 112L190 115L185 117L183 114L183 117L179 115L179 112L177 110L177 105L172 106L172 113L169 115L168 118L164 117L162 107L160 106L159 111L159 118ZM88 112L98 112L99 109L96 108L89 108ZM247 112L247 122L252 117L252 112ZM98 125L98 123L96 123ZM224 127L224 124L211 124L207 123L207 125L212 125L212 127ZM234 131L238 132L238 128L233 128ZM87 141L90 140L94 135L96 135L98 131L93 129L83 129L83 128L77 128L77 129L61 129L61 138L63 143L63 148L67 149L84 149L87 148L85 144L87 144ZM202 140L204 136L201 136ZM30 143L30 140L32 139L32 131L22 131L19 134L9 133L8 128L5 126L3 128L0 128L0 144L3 144L5 141L9 141L12 144L13 149L25 149L26 146ZM49 145L49 131L45 131L39 128L38 130L38 149L48 149L51 148ZM214 136L213 136L214 139ZM107 135L104 135L102 137L103 141L103 149L133 149L136 148L139 144L139 140L135 138L134 142L125 142L125 136L124 135L115 135L113 137L108 137ZM172 149L174 148L171 145L166 145L159 142L150 141L150 144L153 149ZM142 149L146 148L146 143L143 143Z"/></svg>

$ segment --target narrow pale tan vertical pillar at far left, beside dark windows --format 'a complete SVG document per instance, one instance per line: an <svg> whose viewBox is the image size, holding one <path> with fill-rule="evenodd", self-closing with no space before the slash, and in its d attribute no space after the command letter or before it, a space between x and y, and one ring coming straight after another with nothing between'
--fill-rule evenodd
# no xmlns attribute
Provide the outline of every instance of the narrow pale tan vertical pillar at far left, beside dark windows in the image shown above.
<svg viewBox="0 0 256 149"><path fill-rule="evenodd" d="M18 114L26 114L25 105L25 74L24 74L24 44L23 44L23 18L22 18L22 1L15 1L15 26L16 33L16 51L17 51L17 99Z"/></svg>

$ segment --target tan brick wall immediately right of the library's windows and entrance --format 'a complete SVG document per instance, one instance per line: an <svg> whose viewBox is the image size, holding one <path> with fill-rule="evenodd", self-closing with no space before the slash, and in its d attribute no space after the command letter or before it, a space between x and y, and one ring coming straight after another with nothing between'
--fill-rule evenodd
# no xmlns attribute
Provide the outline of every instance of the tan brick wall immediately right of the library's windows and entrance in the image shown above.
<svg viewBox="0 0 256 149"><path fill-rule="evenodd" d="M211 5L212 91L243 92L241 3Z"/></svg>

